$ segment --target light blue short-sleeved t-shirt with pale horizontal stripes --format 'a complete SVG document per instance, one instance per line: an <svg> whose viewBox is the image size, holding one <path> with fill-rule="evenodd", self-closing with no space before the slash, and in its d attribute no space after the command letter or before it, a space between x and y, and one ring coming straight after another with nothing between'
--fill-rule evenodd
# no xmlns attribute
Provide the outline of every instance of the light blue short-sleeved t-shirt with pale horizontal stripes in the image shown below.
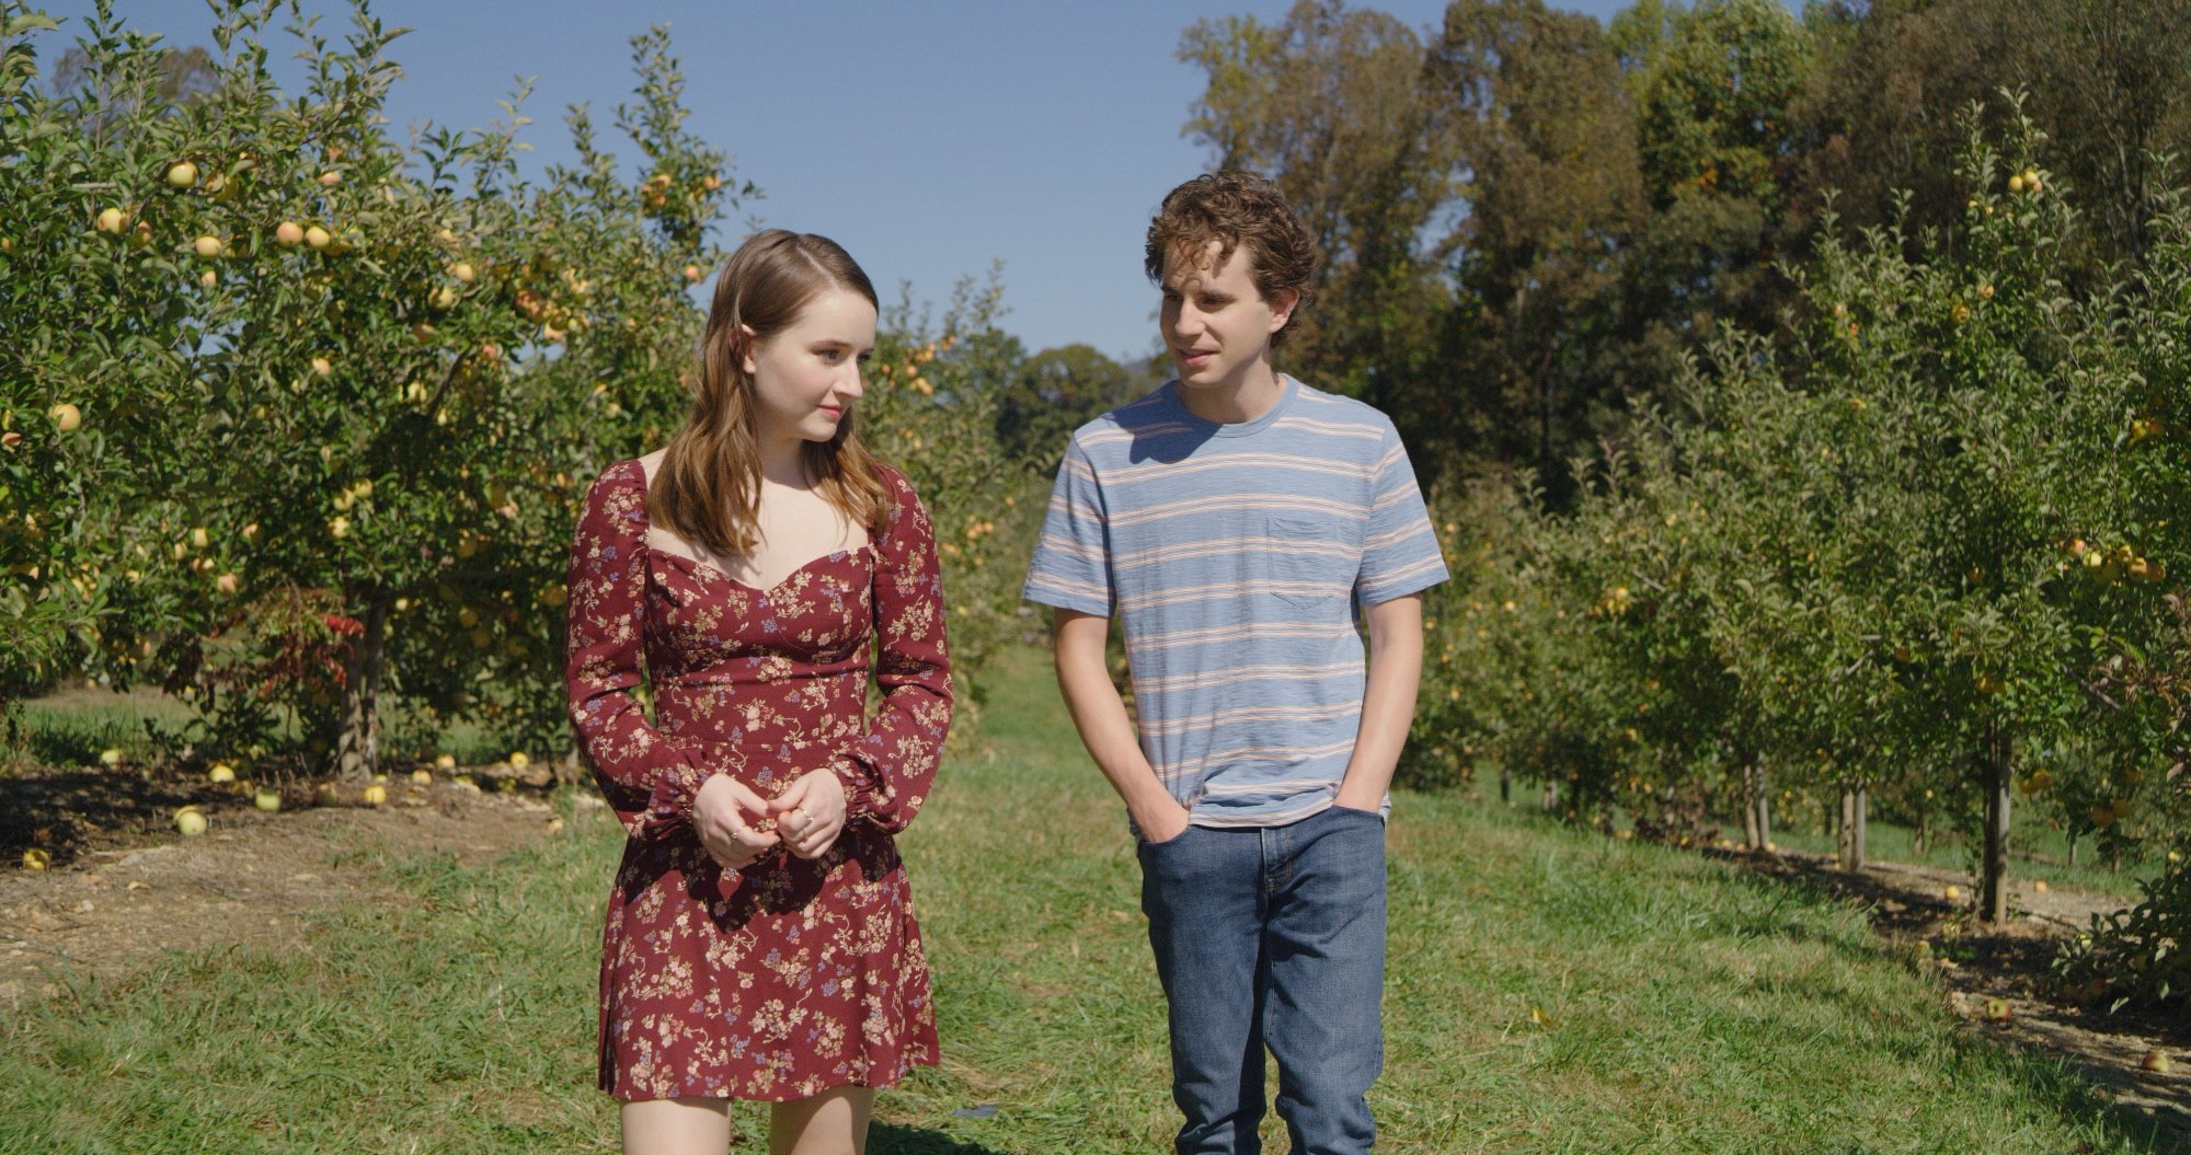
<svg viewBox="0 0 2191 1155"><path fill-rule="evenodd" d="M1354 604L1446 580L1391 420L1286 376L1196 418L1170 383L1074 433L1025 597L1117 615L1142 750L1201 827L1332 805L1363 707Z"/></svg>

